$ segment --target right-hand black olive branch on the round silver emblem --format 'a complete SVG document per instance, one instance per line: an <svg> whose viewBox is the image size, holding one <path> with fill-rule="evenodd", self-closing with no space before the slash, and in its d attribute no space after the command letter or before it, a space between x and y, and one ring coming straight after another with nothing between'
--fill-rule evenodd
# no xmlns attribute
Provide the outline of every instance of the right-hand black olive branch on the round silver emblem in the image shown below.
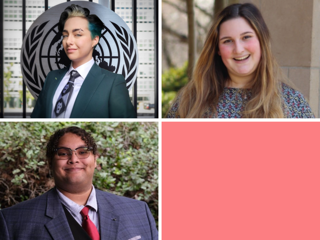
<svg viewBox="0 0 320 240"><path fill-rule="evenodd" d="M111 22L111 21L110 21ZM133 82L133 76L135 75L137 68L134 68L136 61L137 61L137 54L134 50L133 46L133 40L130 37L130 35L127 33L127 31L123 28L121 28L114 22L111 22L112 25L116 28L116 35L120 39L121 46L124 50L123 57L124 57L124 65L122 68L122 75L125 78L125 81L127 83L127 88L131 86ZM134 68L134 69L133 69ZM129 75L130 74L130 75Z"/></svg>

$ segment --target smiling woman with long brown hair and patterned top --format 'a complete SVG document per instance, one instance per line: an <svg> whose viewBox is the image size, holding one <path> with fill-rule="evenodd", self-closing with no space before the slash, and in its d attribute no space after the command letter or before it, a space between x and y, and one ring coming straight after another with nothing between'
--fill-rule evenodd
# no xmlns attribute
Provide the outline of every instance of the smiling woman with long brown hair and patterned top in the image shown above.
<svg viewBox="0 0 320 240"><path fill-rule="evenodd" d="M233 4L213 23L167 118L313 118L303 94L288 83L258 8Z"/></svg>

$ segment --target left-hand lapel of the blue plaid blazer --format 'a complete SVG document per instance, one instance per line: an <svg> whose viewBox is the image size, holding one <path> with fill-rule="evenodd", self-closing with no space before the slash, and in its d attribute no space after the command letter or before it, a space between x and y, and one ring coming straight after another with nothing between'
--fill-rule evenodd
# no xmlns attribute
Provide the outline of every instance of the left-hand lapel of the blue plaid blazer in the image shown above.
<svg viewBox="0 0 320 240"><path fill-rule="evenodd" d="M52 218L45 227L53 240L74 240L55 187L48 192L46 216Z"/></svg>

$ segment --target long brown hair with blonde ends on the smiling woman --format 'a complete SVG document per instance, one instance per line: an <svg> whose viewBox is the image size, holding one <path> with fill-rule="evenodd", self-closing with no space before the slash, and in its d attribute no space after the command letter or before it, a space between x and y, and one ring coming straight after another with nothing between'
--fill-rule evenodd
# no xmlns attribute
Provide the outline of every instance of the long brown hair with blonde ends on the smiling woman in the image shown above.
<svg viewBox="0 0 320 240"><path fill-rule="evenodd" d="M270 33L259 9L253 4L232 4L223 9L212 24L192 79L177 94L176 116L201 118L209 108L216 112L219 97L229 75L219 51L220 25L230 19L244 18L255 30L261 48L261 59L250 82L252 98L245 106L244 118L283 118L281 83L285 76L271 53Z"/></svg>

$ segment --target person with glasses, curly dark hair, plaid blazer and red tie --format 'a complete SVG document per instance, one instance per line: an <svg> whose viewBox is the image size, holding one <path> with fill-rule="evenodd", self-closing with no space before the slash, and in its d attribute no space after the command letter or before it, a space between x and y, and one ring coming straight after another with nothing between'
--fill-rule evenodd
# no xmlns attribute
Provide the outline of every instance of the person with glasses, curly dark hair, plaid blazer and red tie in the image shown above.
<svg viewBox="0 0 320 240"><path fill-rule="evenodd" d="M97 145L90 132L60 129L46 145L55 187L0 211L0 239L158 239L145 202L95 189Z"/></svg>

